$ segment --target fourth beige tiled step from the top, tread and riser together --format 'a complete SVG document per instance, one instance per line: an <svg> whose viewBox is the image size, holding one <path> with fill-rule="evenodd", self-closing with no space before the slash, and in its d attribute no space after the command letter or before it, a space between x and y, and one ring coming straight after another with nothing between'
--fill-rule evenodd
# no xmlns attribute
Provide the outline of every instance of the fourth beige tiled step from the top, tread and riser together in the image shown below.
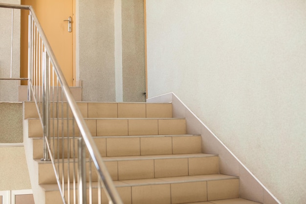
<svg viewBox="0 0 306 204"><path fill-rule="evenodd" d="M210 154L107 157L103 160L113 181L219 174L219 157ZM67 181L69 171L69 179L72 181L73 175L77 175L77 172L73 172L73 163L69 164L68 170L68 159L64 159L64 167L63 159L56 161L60 163L60 178L64 172ZM56 183L52 163L41 160L36 162L39 164L39 184ZM70 159L70 162L73 160ZM89 165L87 161L87 169ZM91 169L94 169L91 165ZM91 178L97 181L96 174Z"/></svg>

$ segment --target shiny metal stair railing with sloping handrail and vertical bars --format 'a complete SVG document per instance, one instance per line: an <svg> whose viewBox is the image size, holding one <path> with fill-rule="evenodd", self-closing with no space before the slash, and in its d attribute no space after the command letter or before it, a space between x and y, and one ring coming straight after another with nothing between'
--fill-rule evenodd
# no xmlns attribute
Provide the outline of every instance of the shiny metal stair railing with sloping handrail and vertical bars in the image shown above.
<svg viewBox="0 0 306 204"><path fill-rule="evenodd" d="M35 11L33 9L32 6L29 5L15 5L15 4L0 4L0 7L4 7L4 8L13 8L13 9L27 9L30 11L30 15L29 15L29 52L28 52L28 57L29 57L29 64L28 64L28 99L31 100L32 98L35 100L36 105L37 105L37 109L38 112L40 114L40 118L42 121L42 125L43 125L43 129L44 129L44 158L43 160L48 160L52 159L52 152L51 152L51 148L50 148L50 115L49 115L49 111L50 111L50 107L49 104L51 103L51 100L49 98L49 94L50 94L50 70L49 68L52 67L53 71L56 74L56 78L57 78L57 84L60 85L61 90L62 90L62 94L65 96L66 98L66 103L69 105L69 108L72 112L73 115L73 119L75 120L79 131L80 131L80 135L81 137L79 138L79 142L80 145L79 147L82 147L83 144L86 146L89 156L92 159L92 162L96 168L96 171L98 173L98 178L99 181L102 181L105 190L106 190L106 194L109 198L109 200L113 203L113 204L123 204L121 201L121 198L113 184L113 181L109 175L109 172L101 158L101 155L98 151L98 148L95 144L95 142L93 141L93 138L87 128L87 125L85 123L85 120L72 96L72 93L67 85L67 82L65 80L64 74L60 68L60 65L58 63L58 61L56 60L56 57L52 51L52 48L44 34L44 30L42 29L41 24L38 21L38 18L35 14ZM34 25L32 25L32 23L34 23ZM35 26L34 28L32 26ZM34 31L33 31L34 30ZM36 34L37 33L37 34ZM33 37L34 35L34 37ZM39 35L39 36L36 36ZM33 39L34 40L33 40ZM38 39L39 38L39 39ZM43 44L42 49L44 47L44 56L41 56L40 54L38 56L35 56L35 54L33 54L33 50L36 49L41 49L41 43ZM39 44L39 48L37 48L37 44ZM35 48L36 45L36 48ZM35 60L34 60L35 58ZM40 68L41 64L38 63L38 61L40 62L41 59L43 60L43 68ZM35 68L36 67L39 68ZM39 65L38 65L39 64ZM40 71L42 73L40 73ZM36 76L35 73L36 72ZM53 74L54 74L53 72ZM41 76L42 74L42 76ZM37 77L38 75L38 77ZM34 77L33 77L34 76ZM42 78L42 79L41 79ZM41 82L42 80L42 82ZM52 79L54 80L54 78ZM54 83L54 82L53 82ZM42 85L42 87L40 87ZM58 86L59 87L59 86ZM57 87L57 89L59 89ZM42 89L42 90L41 90ZM54 88L53 90L51 90L54 92ZM54 95L53 95L54 97ZM41 98L43 98L43 101L41 103ZM53 98L54 100L54 98ZM62 99L63 100L63 99ZM42 107L42 113L41 113L41 104L43 104ZM54 114L54 113L53 113ZM68 122L67 122L68 124ZM54 128L54 127L53 127ZM54 143L53 143L54 145ZM79 185L78 185L78 189L79 189L79 204L85 204L87 202L86 200L86 176L84 174L84 168L85 168L85 150L84 149L80 149L79 150L79 158L81 158L82 160L79 161ZM54 160L54 159L53 159ZM64 160L63 160L64 161ZM54 163L54 161L53 161ZM90 164L91 165L91 164ZM53 164L53 166L55 167L55 165ZM64 162L63 162L63 166L64 166ZM82 172L83 171L83 172ZM68 176L69 177L69 176ZM58 181L58 185L60 188L60 191L62 193L62 197L63 197L63 202L65 203L65 199L64 199L64 190L61 190L61 183L59 183L59 179L57 179ZM100 198L101 199L101 198Z"/></svg>

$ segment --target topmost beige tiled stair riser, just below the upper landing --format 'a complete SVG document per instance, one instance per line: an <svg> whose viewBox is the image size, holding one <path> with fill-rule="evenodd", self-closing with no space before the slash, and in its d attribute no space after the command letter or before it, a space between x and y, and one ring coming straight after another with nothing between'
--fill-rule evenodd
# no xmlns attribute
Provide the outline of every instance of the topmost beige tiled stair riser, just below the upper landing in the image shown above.
<svg viewBox="0 0 306 204"><path fill-rule="evenodd" d="M169 118L172 117L171 103L104 103L77 102L84 118ZM51 103L50 111L53 117L67 117L66 103ZM72 114L69 111L68 117ZM24 119L38 118L34 102L24 102Z"/></svg>

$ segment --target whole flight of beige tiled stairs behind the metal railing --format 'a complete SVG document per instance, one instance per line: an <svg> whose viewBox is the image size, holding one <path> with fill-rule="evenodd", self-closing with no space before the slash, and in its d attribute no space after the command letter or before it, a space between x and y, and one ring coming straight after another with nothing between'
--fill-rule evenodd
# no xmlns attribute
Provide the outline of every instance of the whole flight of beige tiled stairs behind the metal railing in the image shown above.
<svg viewBox="0 0 306 204"><path fill-rule="evenodd" d="M186 120L172 117L171 103L78 106L124 204L258 204L239 198L239 178L219 174L218 155L202 153L201 136L186 134ZM34 197L40 204L61 203L52 164L40 161L42 128L32 102L24 102L24 127ZM75 143L64 137L65 158Z"/></svg>

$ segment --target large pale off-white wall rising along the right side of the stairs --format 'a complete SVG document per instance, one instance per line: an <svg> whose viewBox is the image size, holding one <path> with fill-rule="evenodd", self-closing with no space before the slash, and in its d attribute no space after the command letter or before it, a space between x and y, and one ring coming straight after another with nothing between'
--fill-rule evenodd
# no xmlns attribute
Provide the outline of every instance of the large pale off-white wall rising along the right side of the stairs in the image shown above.
<svg viewBox="0 0 306 204"><path fill-rule="evenodd" d="M306 4L147 0L149 97L174 92L283 204L306 199Z"/></svg>

